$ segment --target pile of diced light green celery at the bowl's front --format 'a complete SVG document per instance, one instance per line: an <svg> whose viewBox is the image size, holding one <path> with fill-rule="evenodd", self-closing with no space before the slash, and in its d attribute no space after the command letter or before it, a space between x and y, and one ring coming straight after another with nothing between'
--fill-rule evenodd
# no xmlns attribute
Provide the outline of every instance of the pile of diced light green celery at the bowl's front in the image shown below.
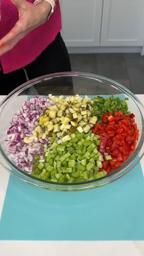
<svg viewBox="0 0 144 256"><path fill-rule="evenodd" d="M65 134L64 131L62 133ZM67 138L67 136L69 135L64 137ZM51 137L49 140L52 144L45 147L45 163L40 163L40 157L35 155L32 175L62 183L82 182L103 177L106 172L99 174L99 168L103 167L103 156L97 150L100 142L98 139L99 137L95 136L91 130L88 133L76 131L69 136L68 141L64 139L61 143Z"/></svg>

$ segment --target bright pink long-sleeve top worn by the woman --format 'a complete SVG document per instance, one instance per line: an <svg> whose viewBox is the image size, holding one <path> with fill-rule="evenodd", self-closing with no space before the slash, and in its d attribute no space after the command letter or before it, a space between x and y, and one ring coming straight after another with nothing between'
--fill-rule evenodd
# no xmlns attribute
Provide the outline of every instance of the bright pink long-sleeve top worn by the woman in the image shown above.
<svg viewBox="0 0 144 256"><path fill-rule="evenodd" d="M27 1L34 2L34 0ZM18 11L15 5L10 0L2 0L0 38L12 29L17 20ZM57 1L57 8L49 21L31 31L10 51L0 56L4 73L10 73L34 61L54 41L61 26L60 5Z"/></svg>

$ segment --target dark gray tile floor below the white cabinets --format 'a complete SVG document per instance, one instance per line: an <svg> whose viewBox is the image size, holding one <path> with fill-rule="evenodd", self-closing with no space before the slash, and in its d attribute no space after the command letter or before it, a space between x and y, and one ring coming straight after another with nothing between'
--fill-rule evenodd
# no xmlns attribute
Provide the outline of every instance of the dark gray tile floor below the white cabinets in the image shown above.
<svg viewBox="0 0 144 256"><path fill-rule="evenodd" d="M73 71L111 78L135 94L144 94L144 56L139 53L70 54Z"/></svg>

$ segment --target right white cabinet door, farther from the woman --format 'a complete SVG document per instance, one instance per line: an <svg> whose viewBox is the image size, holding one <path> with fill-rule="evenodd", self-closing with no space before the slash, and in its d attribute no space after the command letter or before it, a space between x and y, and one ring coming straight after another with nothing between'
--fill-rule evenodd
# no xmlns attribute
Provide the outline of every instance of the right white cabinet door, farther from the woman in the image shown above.
<svg viewBox="0 0 144 256"><path fill-rule="evenodd" d="M143 46L144 1L103 0L101 46Z"/></svg>

